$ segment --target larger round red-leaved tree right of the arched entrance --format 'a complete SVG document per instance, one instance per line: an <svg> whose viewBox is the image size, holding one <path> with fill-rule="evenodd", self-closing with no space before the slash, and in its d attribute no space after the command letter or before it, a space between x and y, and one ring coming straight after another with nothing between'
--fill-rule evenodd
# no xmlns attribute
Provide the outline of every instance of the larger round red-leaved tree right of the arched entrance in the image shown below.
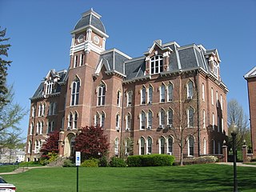
<svg viewBox="0 0 256 192"><path fill-rule="evenodd" d="M109 148L106 135L100 126L86 126L75 138L75 150L81 151L83 159L101 158Z"/></svg>

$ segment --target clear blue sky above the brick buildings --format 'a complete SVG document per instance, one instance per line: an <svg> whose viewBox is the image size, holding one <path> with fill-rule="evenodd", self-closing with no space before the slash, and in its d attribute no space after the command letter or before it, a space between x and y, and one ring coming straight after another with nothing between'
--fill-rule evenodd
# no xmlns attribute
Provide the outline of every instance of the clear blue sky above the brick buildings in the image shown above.
<svg viewBox="0 0 256 192"><path fill-rule="evenodd" d="M15 101L30 109L29 98L50 69L67 69L70 31L81 14L94 8L106 27L106 49L142 56L152 42L202 44L218 49L222 81L248 110L243 75L256 66L256 1L254 0L0 0L0 26L12 47L8 82ZM1 28L1 29L2 29ZM29 115L21 122L26 136Z"/></svg>

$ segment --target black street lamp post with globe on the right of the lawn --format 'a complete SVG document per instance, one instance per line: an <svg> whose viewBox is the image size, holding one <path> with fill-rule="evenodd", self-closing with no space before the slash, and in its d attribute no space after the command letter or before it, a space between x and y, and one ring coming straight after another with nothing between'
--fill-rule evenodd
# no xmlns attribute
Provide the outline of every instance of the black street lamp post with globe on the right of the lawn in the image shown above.
<svg viewBox="0 0 256 192"><path fill-rule="evenodd" d="M238 126L234 122L230 125L230 133L233 138L233 162L234 162L234 192L238 192L238 179L237 179L237 150L235 138L238 134Z"/></svg>

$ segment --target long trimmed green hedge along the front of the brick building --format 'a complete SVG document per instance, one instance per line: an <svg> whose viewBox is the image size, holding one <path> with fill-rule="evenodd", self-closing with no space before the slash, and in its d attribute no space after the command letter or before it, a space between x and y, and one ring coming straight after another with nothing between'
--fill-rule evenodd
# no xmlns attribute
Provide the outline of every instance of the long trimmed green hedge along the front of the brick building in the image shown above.
<svg viewBox="0 0 256 192"><path fill-rule="evenodd" d="M128 156L128 166L171 166L174 156L168 154L145 154Z"/></svg>

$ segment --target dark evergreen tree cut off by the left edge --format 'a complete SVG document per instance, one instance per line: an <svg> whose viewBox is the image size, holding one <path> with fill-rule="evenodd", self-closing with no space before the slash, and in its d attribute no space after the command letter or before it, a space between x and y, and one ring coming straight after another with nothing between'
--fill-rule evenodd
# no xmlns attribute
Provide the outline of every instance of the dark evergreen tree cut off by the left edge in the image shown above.
<svg viewBox="0 0 256 192"><path fill-rule="evenodd" d="M1 29L1 26L0 26ZM6 42L9 38L4 38L6 35L6 29L0 30L0 56L3 55L8 57L7 50L10 48L10 44L2 44ZM0 108L6 105L9 101L6 99L6 94L8 94L8 88L6 86L6 76L7 76L7 67L10 66L11 61L6 61L5 59L0 58Z"/></svg>

